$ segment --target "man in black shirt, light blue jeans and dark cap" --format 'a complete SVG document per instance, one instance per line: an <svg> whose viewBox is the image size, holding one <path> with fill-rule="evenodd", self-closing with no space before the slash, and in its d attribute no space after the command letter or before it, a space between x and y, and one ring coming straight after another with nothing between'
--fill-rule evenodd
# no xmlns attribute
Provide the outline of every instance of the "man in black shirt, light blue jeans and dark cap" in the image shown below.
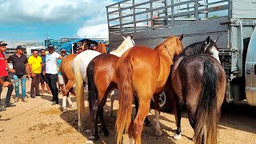
<svg viewBox="0 0 256 144"><path fill-rule="evenodd" d="M28 65L28 60L26 55L24 54L25 48L23 46L17 46L16 53L10 55L7 58L7 62L12 62L14 66L14 90L15 90L15 101L18 102L19 100L19 80L21 81L22 85L22 101L27 102L26 99L26 75L30 74L30 69Z"/></svg>

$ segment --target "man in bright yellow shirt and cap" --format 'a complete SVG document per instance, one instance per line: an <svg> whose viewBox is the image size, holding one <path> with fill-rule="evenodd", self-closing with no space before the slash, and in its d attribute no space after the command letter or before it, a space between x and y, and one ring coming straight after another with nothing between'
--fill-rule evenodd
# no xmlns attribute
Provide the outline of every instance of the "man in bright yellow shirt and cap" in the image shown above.
<svg viewBox="0 0 256 144"><path fill-rule="evenodd" d="M29 60L30 65L30 73L32 77L31 82L31 90L30 90L30 97L34 97L34 90L36 96L41 96L39 94L39 83L41 77L41 70L42 70L42 58L38 56L38 50L34 50L33 54L30 56Z"/></svg>

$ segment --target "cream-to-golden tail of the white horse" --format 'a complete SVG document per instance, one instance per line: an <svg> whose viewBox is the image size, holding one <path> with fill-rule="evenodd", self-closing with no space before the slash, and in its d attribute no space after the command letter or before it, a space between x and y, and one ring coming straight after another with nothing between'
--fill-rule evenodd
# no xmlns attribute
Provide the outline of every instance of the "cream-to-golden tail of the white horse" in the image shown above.
<svg viewBox="0 0 256 144"><path fill-rule="evenodd" d="M81 65L79 58L74 58L73 62L73 72L75 79L75 91L76 98L78 102L78 125L82 126L82 123L79 124L79 119L82 119L82 115L85 114L85 105L84 105L84 82L82 79L82 74L80 72L79 66Z"/></svg>

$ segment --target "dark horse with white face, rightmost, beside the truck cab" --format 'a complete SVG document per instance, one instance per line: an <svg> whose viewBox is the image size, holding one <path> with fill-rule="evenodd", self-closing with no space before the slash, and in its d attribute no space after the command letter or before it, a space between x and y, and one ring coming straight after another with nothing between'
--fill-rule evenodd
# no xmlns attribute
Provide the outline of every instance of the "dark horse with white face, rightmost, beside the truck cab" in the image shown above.
<svg viewBox="0 0 256 144"><path fill-rule="evenodd" d="M172 71L177 132L181 139L182 104L188 110L195 143L217 143L218 118L226 89L226 74L218 58L216 41L194 43L179 54Z"/></svg>

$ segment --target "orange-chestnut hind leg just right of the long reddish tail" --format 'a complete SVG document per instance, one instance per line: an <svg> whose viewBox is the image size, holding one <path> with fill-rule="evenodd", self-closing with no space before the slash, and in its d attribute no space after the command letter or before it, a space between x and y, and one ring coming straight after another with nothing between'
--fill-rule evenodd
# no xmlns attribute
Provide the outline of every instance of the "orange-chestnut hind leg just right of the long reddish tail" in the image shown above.
<svg viewBox="0 0 256 144"><path fill-rule="evenodd" d="M134 120L134 139L136 144L140 144L142 141L144 120L150 110L150 97L149 99L138 99L138 104L138 114Z"/></svg>

